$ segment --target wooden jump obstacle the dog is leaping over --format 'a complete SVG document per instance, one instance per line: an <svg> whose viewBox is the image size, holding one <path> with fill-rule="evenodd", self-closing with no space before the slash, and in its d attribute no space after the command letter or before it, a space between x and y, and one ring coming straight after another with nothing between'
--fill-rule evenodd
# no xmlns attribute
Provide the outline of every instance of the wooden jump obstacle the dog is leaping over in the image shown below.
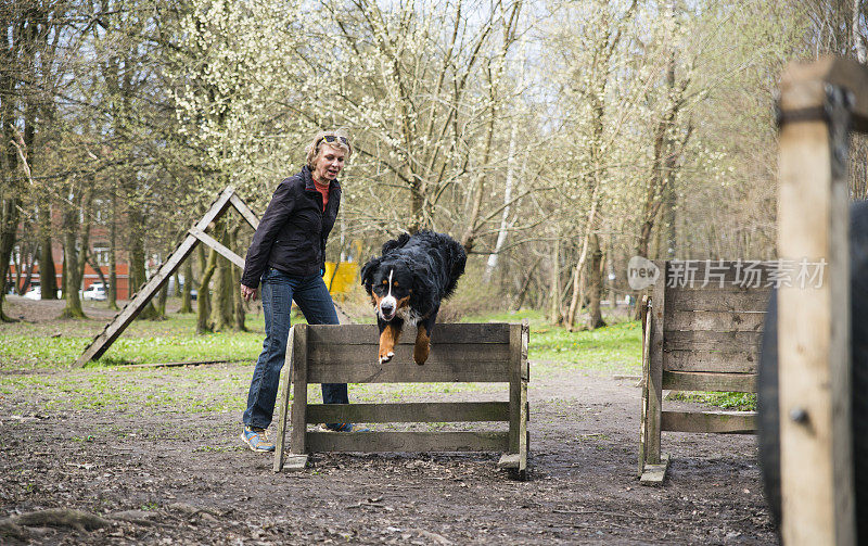
<svg viewBox="0 0 868 546"><path fill-rule="evenodd" d="M528 446L527 321L444 323L434 328L431 356L412 361L414 329L404 332L392 361L378 364L376 325L295 325L290 331L279 398L275 472L301 470L315 452L501 452L499 466L525 478ZM309 383L500 382L508 402L308 404ZM292 386L291 386L292 385ZM290 389L293 392L292 412ZM289 418L288 418L289 417ZM324 422L507 421L509 431L319 432ZM292 422L290 455L284 456Z"/></svg>

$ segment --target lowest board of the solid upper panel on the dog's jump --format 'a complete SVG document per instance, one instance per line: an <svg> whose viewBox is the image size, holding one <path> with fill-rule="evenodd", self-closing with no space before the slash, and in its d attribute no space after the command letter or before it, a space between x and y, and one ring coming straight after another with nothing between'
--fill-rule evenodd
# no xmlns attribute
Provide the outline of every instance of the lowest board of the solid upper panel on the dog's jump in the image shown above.
<svg viewBox="0 0 868 546"><path fill-rule="evenodd" d="M433 352L433 351L432 351ZM401 359L378 364L367 358L356 363L315 364L308 373L310 383L500 383L509 381L509 361L481 361L472 366L457 360L429 360L418 366Z"/></svg>

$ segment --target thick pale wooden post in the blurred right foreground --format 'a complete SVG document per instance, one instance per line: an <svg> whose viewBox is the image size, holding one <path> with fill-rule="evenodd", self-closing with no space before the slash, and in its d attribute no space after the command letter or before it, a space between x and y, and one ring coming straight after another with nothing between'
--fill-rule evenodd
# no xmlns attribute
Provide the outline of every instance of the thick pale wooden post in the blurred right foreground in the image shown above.
<svg viewBox="0 0 868 546"><path fill-rule="evenodd" d="M835 59L791 65L781 79L778 252L796 264L825 262L818 280L793 278L778 294L781 523L788 546L855 544L846 147L848 96L856 91L864 110L868 72Z"/></svg>

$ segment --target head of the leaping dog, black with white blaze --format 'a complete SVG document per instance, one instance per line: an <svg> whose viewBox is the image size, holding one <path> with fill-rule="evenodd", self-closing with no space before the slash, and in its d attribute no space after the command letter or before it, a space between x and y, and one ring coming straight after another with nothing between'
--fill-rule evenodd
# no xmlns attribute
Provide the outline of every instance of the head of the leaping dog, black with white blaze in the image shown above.
<svg viewBox="0 0 868 546"><path fill-rule="evenodd" d="M385 321L410 305L413 293L413 271L403 259L371 258L361 268L361 284L371 296L376 313Z"/></svg>

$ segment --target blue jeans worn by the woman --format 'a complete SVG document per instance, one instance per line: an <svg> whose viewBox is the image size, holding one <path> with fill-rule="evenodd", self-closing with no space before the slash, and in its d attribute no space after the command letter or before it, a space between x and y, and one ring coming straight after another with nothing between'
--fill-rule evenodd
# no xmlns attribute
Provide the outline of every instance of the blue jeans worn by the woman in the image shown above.
<svg viewBox="0 0 868 546"><path fill-rule="evenodd" d="M263 312L265 342L253 370L244 424L267 429L271 424L278 397L280 370L286 359L292 301L298 304L310 325L336 325L337 313L322 277L293 277L269 267L263 275ZM324 404L349 404L346 383L322 383Z"/></svg>

